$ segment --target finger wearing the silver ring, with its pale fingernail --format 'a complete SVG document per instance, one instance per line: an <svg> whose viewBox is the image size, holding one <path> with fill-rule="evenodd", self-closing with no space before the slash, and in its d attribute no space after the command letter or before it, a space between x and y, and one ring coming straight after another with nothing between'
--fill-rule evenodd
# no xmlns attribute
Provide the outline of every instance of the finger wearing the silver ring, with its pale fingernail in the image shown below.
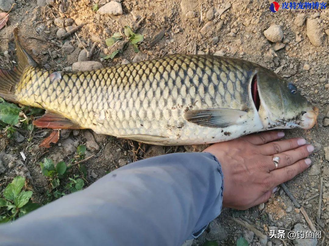
<svg viewBox="0 0 329 246"><path fill-rule="evenodd" d="M301 146L297 149L285 151L279 154L276 154L276 156L280 157L279 163L278 163L278 169L290 166L294 164L295 162L304 159L305 157L309 156L314 151L314 147L311 144ZM272 171L276 169L275 164L272 161L273 156L268 156L268 163L269 163L269 170Z"/></svg>

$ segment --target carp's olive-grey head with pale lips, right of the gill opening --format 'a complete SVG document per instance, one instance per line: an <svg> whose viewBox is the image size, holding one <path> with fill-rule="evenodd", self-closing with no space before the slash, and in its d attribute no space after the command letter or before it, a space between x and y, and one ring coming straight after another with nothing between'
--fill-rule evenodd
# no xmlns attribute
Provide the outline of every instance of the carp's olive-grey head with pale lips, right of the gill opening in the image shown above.
<svg viewBox="0 0 329 246"><path fill-rule="evenodd" d="M264 127L311 129L316 124L318 108L301 95L293 83L262 68L256 76L258 113Z"/></svg>

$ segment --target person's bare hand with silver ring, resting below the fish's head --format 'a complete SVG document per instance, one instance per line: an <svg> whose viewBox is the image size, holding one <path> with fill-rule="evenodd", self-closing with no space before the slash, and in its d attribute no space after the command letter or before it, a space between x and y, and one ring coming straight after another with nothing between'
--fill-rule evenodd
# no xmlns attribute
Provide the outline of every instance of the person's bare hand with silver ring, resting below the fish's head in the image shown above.
<svg viewBox="0 0 329 246"><path fill-rule="evenodd" d="M277 185L305 171L314 151L304 138L275 141L283 132L252 134L215 143L203 152L214 154L224 175L223 206L248 209L266 202ZM280 157L278 168L272 156ZM306 159L305 159L306 158Z"/></svg>

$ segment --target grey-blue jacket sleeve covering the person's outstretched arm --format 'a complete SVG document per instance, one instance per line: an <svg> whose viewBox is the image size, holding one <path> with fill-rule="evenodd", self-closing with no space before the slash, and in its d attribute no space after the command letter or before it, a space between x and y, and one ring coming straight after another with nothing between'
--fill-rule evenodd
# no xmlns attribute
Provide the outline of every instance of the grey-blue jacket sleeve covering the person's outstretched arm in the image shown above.
<svg viewBox="0 0 329 246"><path fill-rule="evenodd" d="M148 158L0 225L0 244L180 246L220 214L222 191L212 154Z"/></svg>

